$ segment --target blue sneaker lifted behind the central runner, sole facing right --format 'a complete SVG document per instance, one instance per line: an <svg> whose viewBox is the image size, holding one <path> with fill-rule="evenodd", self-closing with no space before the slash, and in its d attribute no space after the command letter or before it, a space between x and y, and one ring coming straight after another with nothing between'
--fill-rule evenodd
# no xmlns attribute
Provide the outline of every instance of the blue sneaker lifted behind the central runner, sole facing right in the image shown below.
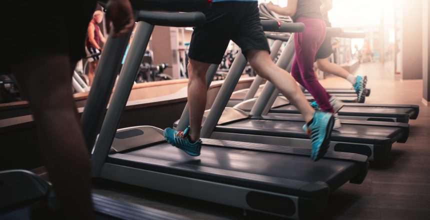
<svg viewBox="0 0 430 220"><path fill-rule="evenodd" d="M312 144L310 159L313 161L320 159L327 152L333 124L333 114L315 111L312 120L303 125L303 130L310 136Z"/></svg>

